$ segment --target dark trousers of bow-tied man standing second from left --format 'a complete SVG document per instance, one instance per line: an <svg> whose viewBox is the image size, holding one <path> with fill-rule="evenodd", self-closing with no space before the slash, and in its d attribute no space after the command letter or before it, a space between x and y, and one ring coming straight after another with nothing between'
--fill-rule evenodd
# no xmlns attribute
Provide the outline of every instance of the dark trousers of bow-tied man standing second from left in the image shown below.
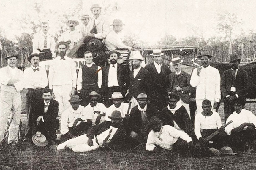
<svg viewBox="0 0 256 170"><path fill-rule="evenodd" d="M26 94L26 129L25 129L25 137L28 140L31 140L32 132L33 132L33 120L34 120L34 107L37 101L42 99L42 88L40 89L28 89Z"/></svg>

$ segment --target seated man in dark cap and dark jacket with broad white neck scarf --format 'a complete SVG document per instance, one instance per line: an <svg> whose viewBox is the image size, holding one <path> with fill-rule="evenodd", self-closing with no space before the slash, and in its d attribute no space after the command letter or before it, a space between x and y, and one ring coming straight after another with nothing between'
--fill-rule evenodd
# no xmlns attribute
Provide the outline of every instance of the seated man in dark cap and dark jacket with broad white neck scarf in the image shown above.
<svg viewBox="0 0 256 170"><path fill-rule="evenodd" d="M170 125L178 130L186 132L193 140L196 140L194 127L187 110L181 105L179 96L169 92L167 95L168 106L162 110L161 120L164 125Z"/></svg>

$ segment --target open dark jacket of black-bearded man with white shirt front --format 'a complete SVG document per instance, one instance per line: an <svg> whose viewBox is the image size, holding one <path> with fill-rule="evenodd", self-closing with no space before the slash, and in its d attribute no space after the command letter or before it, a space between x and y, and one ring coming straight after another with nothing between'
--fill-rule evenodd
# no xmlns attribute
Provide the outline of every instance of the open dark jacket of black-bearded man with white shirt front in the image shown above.
<svg viewBox="0 0 256 170"><path fill-rule="evenodd" d="M112 65L112 64L111 64ZM102 89L103 92L108 88L108 72L110 64L106 65L102 69ZM122 64L117 64L117 81L121 88L121 93L125 94L129 87L129 67Z"/></svg>

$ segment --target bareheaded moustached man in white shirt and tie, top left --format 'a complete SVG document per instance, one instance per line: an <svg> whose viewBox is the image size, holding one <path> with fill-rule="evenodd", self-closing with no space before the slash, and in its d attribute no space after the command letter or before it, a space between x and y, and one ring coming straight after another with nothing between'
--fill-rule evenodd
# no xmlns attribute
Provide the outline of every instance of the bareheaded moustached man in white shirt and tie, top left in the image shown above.
<svg viewBox="0 0 256 170"><path fill-rule="evenodd" d="M33 51L43 51L43 50L50 50L50 52L47 55L50 55L50 57L56 57L55 51L55 40L53 36L51 36L48 33L49 30L49 24L48 22L41 22L41 30L39 33L36 33L34 35L34 38L32 40L33 43Z"/></svg>

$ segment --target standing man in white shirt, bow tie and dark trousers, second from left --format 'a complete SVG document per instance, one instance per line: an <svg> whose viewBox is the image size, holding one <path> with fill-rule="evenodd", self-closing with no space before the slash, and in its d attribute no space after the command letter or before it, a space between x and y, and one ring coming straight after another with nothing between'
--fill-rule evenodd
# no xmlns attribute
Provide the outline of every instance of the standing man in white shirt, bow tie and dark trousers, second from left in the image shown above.
<svg viewBox="0 0 256 170"><path fill-rule="evenodd" d="M31 54L28 57L31 67L24 70L24 85L27 89L26 94L26 113L27 122L25 130L25 139L31 140L33 128L34 106L42 99L42 90L48 85L48 78L45 68L39 67L39 54Z"/></svg>

